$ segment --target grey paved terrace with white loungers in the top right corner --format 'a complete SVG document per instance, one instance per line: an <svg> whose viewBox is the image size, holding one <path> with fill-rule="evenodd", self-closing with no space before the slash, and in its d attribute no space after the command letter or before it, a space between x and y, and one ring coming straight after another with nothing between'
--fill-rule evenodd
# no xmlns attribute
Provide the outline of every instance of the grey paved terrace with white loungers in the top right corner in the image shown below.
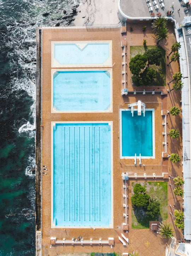
<svg viewBox="0 0 191 256"><path fill-rule="evenodd" d="M181 1L179 0L165 0L164 8L161 9L159 0L157 0L159 9L155 11L153 2L150 0L153 12L155 13L155 17L157 12L161 12L162 16L167 16L167 11L172 11L171 17L175 19L176 23L178 22L179 25L181 24L181 21L183 21L185 16L191 15L191 8L188 11L184 11L185 7L181 6L180 2ZM137 1L120 0L120 7L122 12L129 18L135 19L140 17L150 17L150 12L146 0L139 1L139 4L137 4ZM180 11L178 11L179 9Z"/></svg>

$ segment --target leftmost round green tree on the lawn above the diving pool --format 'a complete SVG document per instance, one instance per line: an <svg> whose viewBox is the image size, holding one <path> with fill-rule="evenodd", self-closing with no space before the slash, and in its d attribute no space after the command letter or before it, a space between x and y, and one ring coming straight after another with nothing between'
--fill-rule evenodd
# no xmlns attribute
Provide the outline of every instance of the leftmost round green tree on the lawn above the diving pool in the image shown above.
<svg viewBox="0 0 191 256"><path fill-rule="evenodd" d="M129 62L129 69L133 75L138 75L144 69L147 62L145 55L137 54Z"/></svg>

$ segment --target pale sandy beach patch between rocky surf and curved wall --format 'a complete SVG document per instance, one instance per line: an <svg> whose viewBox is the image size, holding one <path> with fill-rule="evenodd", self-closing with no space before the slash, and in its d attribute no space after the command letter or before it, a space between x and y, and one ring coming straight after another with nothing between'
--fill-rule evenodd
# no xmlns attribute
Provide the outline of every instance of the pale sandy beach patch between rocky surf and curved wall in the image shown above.
<svg viewBox="0 0 191 256"><path fill-rule="evenodd" d="M77 11L75 26L113 26L120 22L118 0L82 0Z"/></svg>

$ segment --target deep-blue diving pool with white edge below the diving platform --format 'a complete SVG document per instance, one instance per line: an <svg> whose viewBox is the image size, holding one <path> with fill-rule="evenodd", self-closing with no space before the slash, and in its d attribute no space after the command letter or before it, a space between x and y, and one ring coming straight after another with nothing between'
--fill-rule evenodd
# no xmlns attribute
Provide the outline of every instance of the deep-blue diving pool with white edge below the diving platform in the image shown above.
<svg viewBox="0 0 191 256"><path fill-rule="evenodd" d="M131 109L120 109L120 158L155 158L155 111L145 109L138 116Z"/></svg>

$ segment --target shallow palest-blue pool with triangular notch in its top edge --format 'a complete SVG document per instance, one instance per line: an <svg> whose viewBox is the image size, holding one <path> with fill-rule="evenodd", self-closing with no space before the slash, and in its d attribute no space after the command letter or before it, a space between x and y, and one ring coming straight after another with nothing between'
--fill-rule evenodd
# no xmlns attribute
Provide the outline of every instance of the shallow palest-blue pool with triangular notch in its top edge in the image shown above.
<svg viewBox="0 0 191 256"><path fill-rule="evenodd" d="M112 41L52 42L52 67L112 66Z"/></svg>

